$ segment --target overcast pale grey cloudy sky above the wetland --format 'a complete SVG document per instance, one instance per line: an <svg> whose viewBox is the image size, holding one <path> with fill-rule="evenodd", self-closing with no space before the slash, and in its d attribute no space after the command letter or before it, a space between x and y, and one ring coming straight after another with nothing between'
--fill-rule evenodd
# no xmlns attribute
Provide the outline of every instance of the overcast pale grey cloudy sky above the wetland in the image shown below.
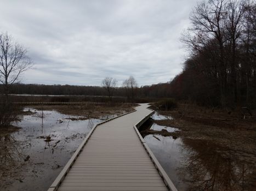
<svg viewBox="0 0 256 191"><path fill-rule="evenodd" d="M0 32L24 45L33 69L24 83L100 85L130 75L139 86L182 69L180 33L196 0L0 0Z"/></svg>

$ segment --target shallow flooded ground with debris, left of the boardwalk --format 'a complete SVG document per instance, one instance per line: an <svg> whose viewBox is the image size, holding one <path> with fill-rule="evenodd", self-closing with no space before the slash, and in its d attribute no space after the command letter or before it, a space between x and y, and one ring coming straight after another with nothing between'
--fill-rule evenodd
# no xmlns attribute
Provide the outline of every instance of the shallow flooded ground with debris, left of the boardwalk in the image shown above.
<svg viewBox="0 0 256 191"><path fill-rule="evenodd" d="M47 190L99 119L24 108L14 133L0 135L0 190Z"/></svg>

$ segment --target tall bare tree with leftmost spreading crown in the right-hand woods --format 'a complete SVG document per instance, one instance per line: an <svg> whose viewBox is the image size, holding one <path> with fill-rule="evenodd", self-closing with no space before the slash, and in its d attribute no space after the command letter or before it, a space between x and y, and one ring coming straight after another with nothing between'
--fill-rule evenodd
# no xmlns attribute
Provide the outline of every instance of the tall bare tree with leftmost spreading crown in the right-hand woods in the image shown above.
<svg viewBox="0 0 256 191"><path fill-rule="evenodd" d="M225 105L227 63L225 59L224 45L227 41L225 37L225 17L227 2L225 0L202 1L197 4L190 15L192 27L188 29L187 34L181 39L185 44L192 47L196 53L201 52L204 47L216 39L218 52L215 56L217 59L214 66L217 70L220 98L222 105Z"/></svg>

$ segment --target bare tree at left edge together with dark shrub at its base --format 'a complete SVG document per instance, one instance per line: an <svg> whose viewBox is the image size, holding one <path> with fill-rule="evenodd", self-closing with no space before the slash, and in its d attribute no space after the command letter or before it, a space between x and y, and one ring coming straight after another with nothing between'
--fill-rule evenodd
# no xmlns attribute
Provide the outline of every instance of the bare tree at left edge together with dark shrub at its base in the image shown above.
<svg viewBox="0 0 256 191"><path fill-rule="evenodd" d="M0 83L5 96L0 99L0 127L8 127L16 120L18 112L9 99L10 87L18 81L20 74L32 65L27 50L13 41L8 33L0 34Z"/></svg>

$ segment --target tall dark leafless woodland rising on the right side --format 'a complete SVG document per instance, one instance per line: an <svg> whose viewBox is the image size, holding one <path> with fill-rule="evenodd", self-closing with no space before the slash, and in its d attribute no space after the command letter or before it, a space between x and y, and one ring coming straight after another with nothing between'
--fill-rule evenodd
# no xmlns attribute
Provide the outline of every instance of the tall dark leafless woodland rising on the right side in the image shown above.
<svg viewBox="0 0 256 191"><path fill-rule="evenodd" d="M170 96L204 105L255 107L255 3L203 1L190 20L181 38L190 57L170 83Z"/></svg>

